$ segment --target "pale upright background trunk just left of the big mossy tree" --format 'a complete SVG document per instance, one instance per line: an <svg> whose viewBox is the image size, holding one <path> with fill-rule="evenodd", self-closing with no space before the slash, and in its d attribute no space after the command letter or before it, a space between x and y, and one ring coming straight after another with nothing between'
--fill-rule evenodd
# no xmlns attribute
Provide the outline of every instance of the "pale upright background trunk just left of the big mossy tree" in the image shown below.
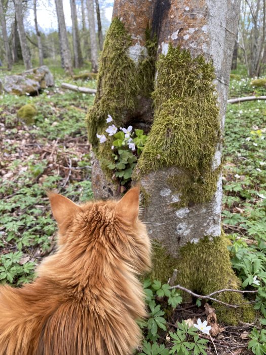
<svg viewBox="0 0 266 355"><path fill-rule="evenodd" d="M89 19L89 30L90 30L90 40L91 40L91 66L92 72L98 72L98 49L97 40L95 32L95 20L94 20L94 2L93 0L87 0L87 10Z"/></svg>

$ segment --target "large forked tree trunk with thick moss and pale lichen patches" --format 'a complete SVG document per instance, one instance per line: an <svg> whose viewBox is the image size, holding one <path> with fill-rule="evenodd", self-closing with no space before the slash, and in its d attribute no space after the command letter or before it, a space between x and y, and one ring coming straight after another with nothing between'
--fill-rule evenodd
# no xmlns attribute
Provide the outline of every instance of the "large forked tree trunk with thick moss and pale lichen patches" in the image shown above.
<svg viewBox="0 0 266 355"><path fill-rule="evenodd" d="M222 132L239 8L240 0L115 1L88 114L97 198L118 191L100 164L111 143L96 138L107 115L118 127L148 132L133 181L157 241L153 273L167 279L177 268L177 282L202 294L239 286L220 227ZM157 53L150 50L156 42ZM243 302L236 293L220 298ZM230 323L252 316L247 307L217 308Z"/></svg>

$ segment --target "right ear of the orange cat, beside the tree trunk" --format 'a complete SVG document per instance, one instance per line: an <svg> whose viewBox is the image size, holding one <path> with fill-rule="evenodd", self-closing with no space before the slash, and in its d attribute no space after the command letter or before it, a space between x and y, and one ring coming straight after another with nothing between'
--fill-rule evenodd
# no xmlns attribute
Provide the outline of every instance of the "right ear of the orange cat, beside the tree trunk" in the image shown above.
<svg viewBox="0 0 266 355"><path fill-rule="evenodd" d="M130 189L117 204L117 210L125 220L135 222L138 217L139 187Z"/></svg>

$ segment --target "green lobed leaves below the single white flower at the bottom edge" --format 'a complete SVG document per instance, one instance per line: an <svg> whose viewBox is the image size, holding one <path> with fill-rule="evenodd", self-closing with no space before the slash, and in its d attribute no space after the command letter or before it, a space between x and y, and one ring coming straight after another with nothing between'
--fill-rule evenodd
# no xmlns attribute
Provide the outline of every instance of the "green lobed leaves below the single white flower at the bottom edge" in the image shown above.
<svg viewBox="0 0 266 355"><path fill-rule="evenodd" d="M176 333L171 333L170 336L173 339L174 346L169 351L170 354L179 355L207 355L207 343L208 340L201 339L196 333L198 330L195 327L189 328L184 321L177 324L178 329Z"/></svg>

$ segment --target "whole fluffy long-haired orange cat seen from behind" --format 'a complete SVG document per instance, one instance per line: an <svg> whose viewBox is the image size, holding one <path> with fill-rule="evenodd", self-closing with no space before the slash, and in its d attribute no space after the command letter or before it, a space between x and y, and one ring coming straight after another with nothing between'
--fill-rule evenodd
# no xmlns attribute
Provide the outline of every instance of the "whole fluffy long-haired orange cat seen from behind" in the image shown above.
<svg viewBox="0 0 266 355"><path fill-rule="evenodd" d="M139 189L77 205L49 194L58 251L21 289L0 287L0 355L128 355L145 316L137 275L150 267Z"/></svg>

